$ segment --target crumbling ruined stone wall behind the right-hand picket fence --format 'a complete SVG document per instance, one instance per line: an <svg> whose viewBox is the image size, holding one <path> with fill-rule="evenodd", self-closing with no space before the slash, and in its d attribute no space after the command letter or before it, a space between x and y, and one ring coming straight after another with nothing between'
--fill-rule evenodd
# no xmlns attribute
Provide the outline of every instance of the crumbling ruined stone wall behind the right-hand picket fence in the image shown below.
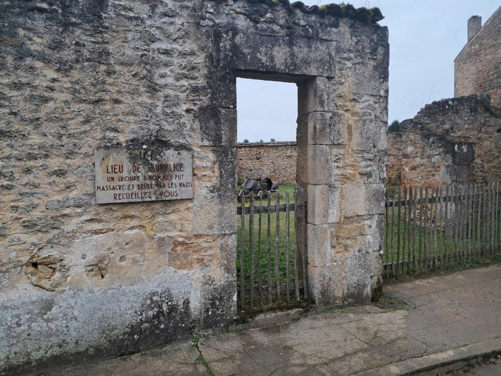
<svg viewBox="0 0 501 376"><path fill-rule="evenodd" d="M392 154L400 149L403 184L501 180L501 111L488 95L433 102L401 126L401 140L388 149Z"/></svg>

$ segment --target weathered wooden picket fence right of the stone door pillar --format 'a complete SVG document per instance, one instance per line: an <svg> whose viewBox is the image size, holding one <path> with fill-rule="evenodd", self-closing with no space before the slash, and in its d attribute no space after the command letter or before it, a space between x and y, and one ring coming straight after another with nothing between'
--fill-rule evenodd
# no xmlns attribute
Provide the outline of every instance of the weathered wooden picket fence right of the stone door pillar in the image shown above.
<svg viewBox="0 0 501 376"><path fill-rule="evenodd" d="M501 247L499 183L386 192L384 275L488 259Z"/></svg>

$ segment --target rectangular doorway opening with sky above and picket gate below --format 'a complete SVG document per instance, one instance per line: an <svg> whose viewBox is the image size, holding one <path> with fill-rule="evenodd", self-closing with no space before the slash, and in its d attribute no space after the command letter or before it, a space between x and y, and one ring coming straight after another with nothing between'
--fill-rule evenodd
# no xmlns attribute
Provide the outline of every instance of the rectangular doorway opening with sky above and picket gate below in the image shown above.
<svg viewBox="0 0 501 376"><path fill-rule="evenodd" d="M300 79L237 73L237 306L308 299L306 192L297 184Z"/></svg>

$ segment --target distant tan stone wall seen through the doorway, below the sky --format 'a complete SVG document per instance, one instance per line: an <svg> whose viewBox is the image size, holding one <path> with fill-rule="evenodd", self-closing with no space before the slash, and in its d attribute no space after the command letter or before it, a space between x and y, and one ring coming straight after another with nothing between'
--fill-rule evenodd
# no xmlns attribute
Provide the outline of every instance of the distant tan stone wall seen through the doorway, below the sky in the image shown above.
<svg viewBox="0 0 501 376"><path fill-rule="evenodd" d="M238 144L237 180L246 176L269 177L279 184L296 184L296 142L253 142Z"/></svg>

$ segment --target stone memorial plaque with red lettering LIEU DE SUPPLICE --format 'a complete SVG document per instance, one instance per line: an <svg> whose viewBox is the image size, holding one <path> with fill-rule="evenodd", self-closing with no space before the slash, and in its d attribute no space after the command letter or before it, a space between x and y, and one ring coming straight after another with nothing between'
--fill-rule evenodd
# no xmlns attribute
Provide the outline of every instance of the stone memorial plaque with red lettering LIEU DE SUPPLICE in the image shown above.
<svg viewBox="0 0 501 376"><path fill-rule="evenodd" d="M190 151L96 149L94 161L97 204L193 198Z"/></svg>

